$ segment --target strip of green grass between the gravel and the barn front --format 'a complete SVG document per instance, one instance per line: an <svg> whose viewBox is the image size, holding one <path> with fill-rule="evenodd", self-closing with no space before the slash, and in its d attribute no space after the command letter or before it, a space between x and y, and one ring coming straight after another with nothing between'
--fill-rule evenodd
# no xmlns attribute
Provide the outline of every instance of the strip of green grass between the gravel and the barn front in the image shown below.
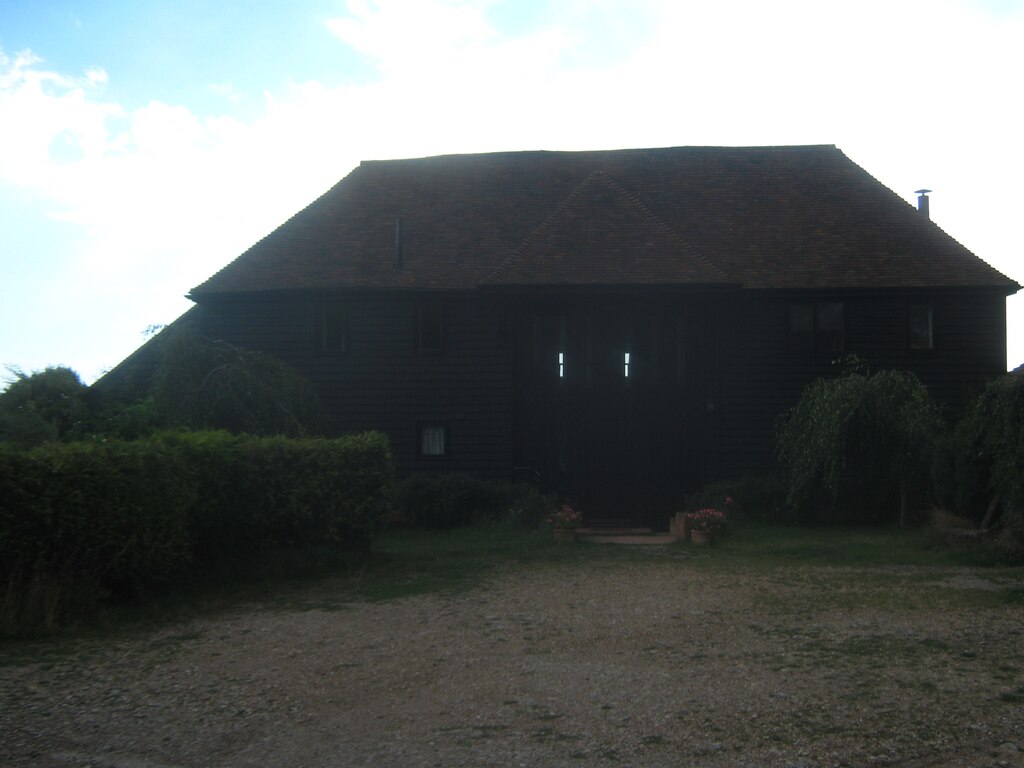
<svg viewBox="0 0 1024 768"><path fill-rule="evenodd" d="M202 615L231 609L344 610L353 601L393 600L429 593L464 592L477 588L500 570L519 566L607 567L631 562L662 562L706 572L741 573L749 570L792 569L787 581L800 585L814 574L801 566L863 568L858 589L829 591L818 599L828 607L883 606L891 600L890 566L933 566L920 579L923 589L914 602L934 606L1024 605L1024 579L1019 567L1009 567L986 548L953 550L935 546L925 530L888 528L799 528L744 524L713 549L682 543L665 546L623 546L577 542L558 545L549 530L524 530L510 525L485 525L451 531L394 528L376 541L370 557L319 564L303 574L268 568L262 574L214 584L186 586L154 596L140 605L109 608L88 623L58 631L53 640L148 632ZM942 589L935 568L984 568L986 578L1002 579L998 588ZM803 581L802 581L803 580ZM904 592L905 594L905 592ZM785 600L765 595L766 600ZM900 599L903 599L902 597ZM31 640L32 638L28 638ZM18 643L17 645L23 645ZM12 643L0 645L0 666ZM24 650L24 648L23 648ZM20 650L13 651L15 655Z"/></svg>

